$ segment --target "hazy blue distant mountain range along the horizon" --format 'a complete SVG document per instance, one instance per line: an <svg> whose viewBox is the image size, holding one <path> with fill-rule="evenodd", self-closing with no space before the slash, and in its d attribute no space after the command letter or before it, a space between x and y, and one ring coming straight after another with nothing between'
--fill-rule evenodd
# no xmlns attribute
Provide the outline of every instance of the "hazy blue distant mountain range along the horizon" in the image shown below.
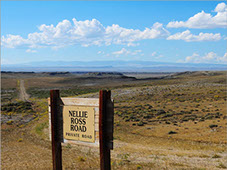
<svg viewBox="0 0 227 170"><path fill-rule="evenodd" d="M167 63L153 61L41 61L2 65L1 71L117 71L182 72L227 70L227 64Z"/></svg>

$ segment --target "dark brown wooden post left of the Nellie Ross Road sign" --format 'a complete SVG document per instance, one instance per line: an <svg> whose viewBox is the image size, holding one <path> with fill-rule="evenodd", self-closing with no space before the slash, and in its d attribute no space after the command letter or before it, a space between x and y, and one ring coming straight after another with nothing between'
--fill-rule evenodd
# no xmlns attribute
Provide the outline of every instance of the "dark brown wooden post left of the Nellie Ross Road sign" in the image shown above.
<svg viewBox="0 0 227 170"><path fill-rule="evenodd" d="M62 148L59 134L59 90L50 91L51 107L51 139L52 139L52 159L53 170L62 170Z"/></svg>

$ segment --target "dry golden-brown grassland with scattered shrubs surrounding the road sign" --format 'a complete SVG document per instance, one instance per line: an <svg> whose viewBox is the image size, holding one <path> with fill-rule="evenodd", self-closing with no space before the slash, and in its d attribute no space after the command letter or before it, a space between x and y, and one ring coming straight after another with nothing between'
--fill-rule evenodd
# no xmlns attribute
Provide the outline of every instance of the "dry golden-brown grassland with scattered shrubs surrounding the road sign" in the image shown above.
<svg viewBox="0 0 227 170"><path fill-rule="evenodd" d="M2 74L1 169L51 169L49 90L115 102L113 169L227 169L227 72L160 79L122 75ZM19 101L20 80L29 101ZM99 169L99 150L62 144L64 169Z"/></svg>

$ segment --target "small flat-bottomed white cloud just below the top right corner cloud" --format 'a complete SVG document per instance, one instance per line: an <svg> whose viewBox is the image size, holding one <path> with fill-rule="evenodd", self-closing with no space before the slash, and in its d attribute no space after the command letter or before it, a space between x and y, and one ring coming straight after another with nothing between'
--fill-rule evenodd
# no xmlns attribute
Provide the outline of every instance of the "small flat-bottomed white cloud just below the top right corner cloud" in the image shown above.
<svg viewBox="0 0 227 170"><path fill-rule="evenodd" d="M184 40L186 42L191 41L218 41L221 39L220 33L199 33L198 35L193 35L189 30L184 32L178 32L176 34L167 37L167 40Z"/></svg>

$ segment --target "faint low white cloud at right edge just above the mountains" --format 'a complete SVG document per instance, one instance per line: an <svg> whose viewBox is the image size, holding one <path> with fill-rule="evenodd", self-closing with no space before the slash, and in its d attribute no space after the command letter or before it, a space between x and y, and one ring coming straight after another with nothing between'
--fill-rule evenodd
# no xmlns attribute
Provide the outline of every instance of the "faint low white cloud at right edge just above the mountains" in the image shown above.
<svg viewBox="0 0 227 170"><path fill-rule="evenodd" d="M226 63L227 64L227 53L220 57L214 52L209 52L203 56L198 53L193 53L191 56L187 56L185 60L181 60L185 63Z"/></svg>

